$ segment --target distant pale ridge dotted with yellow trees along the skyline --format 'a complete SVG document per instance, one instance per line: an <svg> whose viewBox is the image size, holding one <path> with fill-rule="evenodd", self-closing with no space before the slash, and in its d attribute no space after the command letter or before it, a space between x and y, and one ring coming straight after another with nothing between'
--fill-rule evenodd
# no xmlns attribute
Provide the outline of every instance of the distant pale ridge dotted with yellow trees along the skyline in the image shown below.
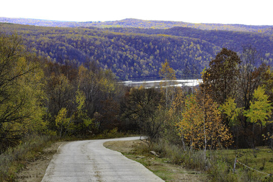
<svg viewBox="0 0 273 182"><path fill-rule="evenodd" d="M118 21L106 21L106 22L70 22L70 21L54 21L54 20L38 20L27 18L6 18L0 17L0 22L16 23L24 25L36 25L36 26L51 26L51 27L135 27L135 28L156 28L166 29L172 27L189 27L198 28L202 30L230 30L230 31L247 31L247 32L259 32L271 35L273 33L273 26L270 25L241 25L241 24L216 24L216 23L187 23L178 21L157 21L157 20L140 20L127 18Z"/></svg>

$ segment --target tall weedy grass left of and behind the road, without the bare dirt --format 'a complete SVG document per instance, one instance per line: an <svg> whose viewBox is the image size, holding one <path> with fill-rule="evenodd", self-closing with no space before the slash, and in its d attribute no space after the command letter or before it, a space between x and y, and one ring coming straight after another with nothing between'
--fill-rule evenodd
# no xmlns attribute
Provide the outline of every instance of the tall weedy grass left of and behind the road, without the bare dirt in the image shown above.
<svg viewBox="0 0 273 182"><path fill-rule="evenodd" d="M109 139L126 136L135 136L135 134L117 132L115 129L112 129L98 135L86 137L66 136L65 138L59 138L56 135L30 135L16 147L11 147L0 154L0 181L16 181L18 178L30 175L20 174L20 172L26 169L29 163L32 165L37 161L43 162L51 158L56 153L58 146L55 146L56 148L51 149L51 151L44 151L44 149L52 148L58 142ZM47 163L44 165L47 165Z"/></svg>

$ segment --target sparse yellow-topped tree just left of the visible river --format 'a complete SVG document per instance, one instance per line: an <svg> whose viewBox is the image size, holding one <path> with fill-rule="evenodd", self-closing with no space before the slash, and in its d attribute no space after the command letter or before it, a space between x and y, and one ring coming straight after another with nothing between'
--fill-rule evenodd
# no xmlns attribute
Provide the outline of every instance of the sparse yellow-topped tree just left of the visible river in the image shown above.
<svg viewBox="0 0 273 182"><path fill-rule="evenodd" d="M111 70L102 70L93 62L79 66L78 87L85 97L89 118L95 117L97 132L118 125L120 85Z"/></svg>

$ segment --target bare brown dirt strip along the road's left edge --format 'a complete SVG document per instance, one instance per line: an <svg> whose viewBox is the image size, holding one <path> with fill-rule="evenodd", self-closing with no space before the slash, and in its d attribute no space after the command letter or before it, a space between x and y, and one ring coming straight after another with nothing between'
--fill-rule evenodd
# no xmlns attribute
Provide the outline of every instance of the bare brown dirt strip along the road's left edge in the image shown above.
<svg viewBox="0 0 273 182"><path fill-rule="evenodd" d="M57 152L58 147L64 143L65 142L57 142L43 149L38 158L30 161L27 166L18 173L17 180L22 182L40 182L53 155Z"/></svg>

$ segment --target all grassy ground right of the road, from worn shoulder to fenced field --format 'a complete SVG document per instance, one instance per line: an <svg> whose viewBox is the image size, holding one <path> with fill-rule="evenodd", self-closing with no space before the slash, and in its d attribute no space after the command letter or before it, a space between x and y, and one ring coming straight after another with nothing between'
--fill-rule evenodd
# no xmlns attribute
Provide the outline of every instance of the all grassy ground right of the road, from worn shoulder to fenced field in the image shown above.
<svg viewBox="0 0 273 182"><path fill-rule="evenodd" d="M166 181L273 181L272 176L251 170L240 163L237 163L233 173L234 160L237 156L239 162L272 174L273 151L268 147L256 148L255 157L252 149L207 151L204 161L203 151L191 153L162 141L153 145L153 150L159 152L162 158L149 154L146 144L140 141L106 142L104 146L142 163ZM183 167L201 170L207 175Z"/></svg>

